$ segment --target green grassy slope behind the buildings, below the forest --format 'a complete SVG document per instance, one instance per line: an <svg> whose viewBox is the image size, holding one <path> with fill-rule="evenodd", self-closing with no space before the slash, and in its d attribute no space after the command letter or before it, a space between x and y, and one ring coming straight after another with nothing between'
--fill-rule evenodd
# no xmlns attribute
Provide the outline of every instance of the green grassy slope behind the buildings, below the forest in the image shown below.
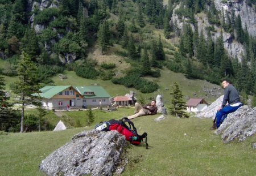
<svg viewBox="0 0 256 176"><path fill-rule="evenodd" d="M104 81L104 80L90 80L90 79L84 79L80 78L75 74L73 71L65 71L65 75L68 76L68 79L61 80L59 76L53 77L53 81L56 85L90 85L94 83L100 84L102 87L106 89L106 91L109 92L110 96L123 96L126 93L129 93L129 91L135 91L137 97L139 95L142 95L145 98L156 98L158 94L163 96L163 101L168 105L170 104L170 91L172 89L172 84L174 81L176 81L181 88L181 91L183 92L184 96L194 97L194 94L197 94L197 97L203 97L208 102L215 101L218 97L206 97L205 92L203 92L203 87L213 87L216 86L215 84L208 83L205 80L197 80L197 79L187 79L185 78L184 74L181 73L175 73L167 68L163 68L161 71L160 78L152 78L152 77L146 77L148 80L154 81L159 84L160 88L158 91L153 93L141 93L136 89L133 88L127 88L123 85L113 84L111 81ZM165 88L169 88L169 90L165 91Z"/></svg>

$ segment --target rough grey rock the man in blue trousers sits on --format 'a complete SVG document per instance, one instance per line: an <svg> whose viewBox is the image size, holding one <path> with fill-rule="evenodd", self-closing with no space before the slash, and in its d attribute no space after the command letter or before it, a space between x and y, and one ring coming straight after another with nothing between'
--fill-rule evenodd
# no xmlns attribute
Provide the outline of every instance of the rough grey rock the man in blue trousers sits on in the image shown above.
<svg viewBox="0 0 256 176"><path fill-rule="evenodd" d="M256 108L241 106L238 110L230 113L221 126L214 132L221 135L225 143L238 138L238 141L245 140L256 132Z"/></svg>

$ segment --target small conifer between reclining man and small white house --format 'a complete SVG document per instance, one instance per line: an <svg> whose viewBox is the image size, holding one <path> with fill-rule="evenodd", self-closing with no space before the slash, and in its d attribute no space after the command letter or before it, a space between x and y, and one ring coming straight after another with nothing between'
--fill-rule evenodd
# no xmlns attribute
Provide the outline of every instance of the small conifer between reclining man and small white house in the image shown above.
<svg viewBox="0 0 256 176"><path fill-rule="evenodd" d="M174 82L172 92L170 94L172 95L172 107L170 108L171 114L179 118L188 118L188 115L184 111L185 101L183 100L183 95L177 82Z"/></svg>

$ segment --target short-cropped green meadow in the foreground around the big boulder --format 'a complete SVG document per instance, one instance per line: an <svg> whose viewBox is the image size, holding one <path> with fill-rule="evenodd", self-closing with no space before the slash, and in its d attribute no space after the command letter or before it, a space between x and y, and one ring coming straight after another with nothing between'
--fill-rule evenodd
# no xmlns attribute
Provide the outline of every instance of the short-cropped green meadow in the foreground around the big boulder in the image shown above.
<svg viewBox="0 0 256 176"><path fill-rule="evenodd" d="M132 114L133 109L94 113L98 120L116 119ZM133 120L139 134L148 132L149 149L144 145L131 145L127 149L129 163L122 175L256 174L256 154L251 148L255 135L242 143L224 144L220 136L209 130L211 119L179 119L168 115L163 121L155 122L156 117L158 115ZM93 126L59 132L0 135L0 175L44 175L38 170L40 162L70 141L73 135Z"/></svg>

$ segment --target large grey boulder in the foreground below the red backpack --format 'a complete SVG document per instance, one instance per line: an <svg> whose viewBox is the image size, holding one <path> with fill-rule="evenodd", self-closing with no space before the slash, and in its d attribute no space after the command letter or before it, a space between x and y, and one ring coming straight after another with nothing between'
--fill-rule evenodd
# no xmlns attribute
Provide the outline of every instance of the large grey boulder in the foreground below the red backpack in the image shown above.
<svg viewBox="0 0 256 176"><path fill-rule="evenodd" d="M129 143L118 131L83 131L49 154L39 166L46 175L112 175L127 164L125 148Z"/></svg>

